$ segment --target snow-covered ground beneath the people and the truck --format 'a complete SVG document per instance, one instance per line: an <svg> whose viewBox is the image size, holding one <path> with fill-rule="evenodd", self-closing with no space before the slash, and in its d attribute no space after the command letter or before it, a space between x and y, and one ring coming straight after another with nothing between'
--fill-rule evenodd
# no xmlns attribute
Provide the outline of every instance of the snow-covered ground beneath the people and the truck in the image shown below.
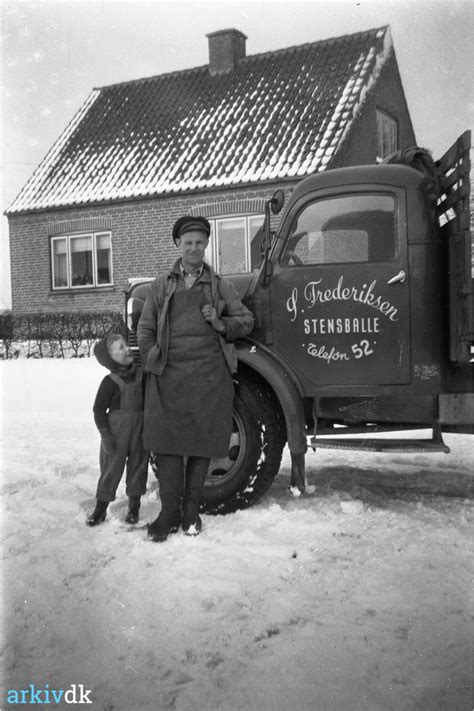
<svg viewBox="0 0 474 711"><path fill-rule="evenodd" d="M153 475L137 527L122 486L84 524L105 371L0 373L4 709L12 689L82 684L97 711L472 711L474 439L309 453L300 499L285 453L258 505L156 544Z"/></svg>

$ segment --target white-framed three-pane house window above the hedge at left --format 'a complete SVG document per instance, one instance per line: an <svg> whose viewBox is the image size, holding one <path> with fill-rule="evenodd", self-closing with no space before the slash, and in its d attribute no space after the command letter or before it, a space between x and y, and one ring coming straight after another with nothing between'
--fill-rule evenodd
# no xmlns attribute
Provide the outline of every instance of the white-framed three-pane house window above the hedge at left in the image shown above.
<svg viewBox="0 0 474 711"><path fill-rule="evenodd" d="M53 237L51 264L53 289L112 284L110 232Z"/></svg>

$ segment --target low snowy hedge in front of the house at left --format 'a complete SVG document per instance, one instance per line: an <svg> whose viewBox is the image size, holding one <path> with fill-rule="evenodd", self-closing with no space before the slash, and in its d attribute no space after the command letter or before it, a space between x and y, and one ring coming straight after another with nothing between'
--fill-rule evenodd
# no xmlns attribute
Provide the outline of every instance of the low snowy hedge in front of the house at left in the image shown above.
<svg viewBox="0 0 474 711"><path fill-rule="evenodd" d="M125 333L120 313L0 313L0 358L83 358L108 333Z"/></svg>

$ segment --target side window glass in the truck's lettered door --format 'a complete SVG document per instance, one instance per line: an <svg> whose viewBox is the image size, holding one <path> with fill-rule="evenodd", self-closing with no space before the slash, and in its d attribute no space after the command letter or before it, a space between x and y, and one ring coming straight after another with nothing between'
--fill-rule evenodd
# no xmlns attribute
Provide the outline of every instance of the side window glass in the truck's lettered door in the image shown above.
<svg viewBox="0 0 474 711"><path fill-rule="evenodd" d="M290 229L284 266L385 262L397 251L397 204L389 193L354 193L308 203Z"/></svg>

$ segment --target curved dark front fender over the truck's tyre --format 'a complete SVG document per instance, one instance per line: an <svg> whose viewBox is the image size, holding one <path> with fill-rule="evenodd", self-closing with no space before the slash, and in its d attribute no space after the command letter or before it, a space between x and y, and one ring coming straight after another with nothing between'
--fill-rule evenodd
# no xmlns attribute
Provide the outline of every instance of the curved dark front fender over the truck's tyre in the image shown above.
<svg viewBox="0 0 474 711"><path fill-rule="evenodd" d="M258 373L275 393L285 417L290 452L304 454L306 452L305 416L303 401L296 384L283 365L260 344L239 341L235 345L239 363Z"/></svg>

